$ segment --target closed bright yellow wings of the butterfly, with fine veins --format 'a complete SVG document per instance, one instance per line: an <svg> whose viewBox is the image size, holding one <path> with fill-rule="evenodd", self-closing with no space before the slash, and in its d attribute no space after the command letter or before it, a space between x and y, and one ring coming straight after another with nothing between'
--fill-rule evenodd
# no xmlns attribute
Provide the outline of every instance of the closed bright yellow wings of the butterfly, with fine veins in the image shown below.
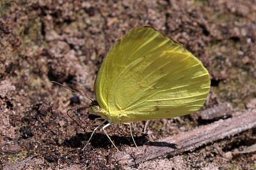
<svg viewBox="0 0 256 170"><path fill-rule="evenodd" d="M200 60L151 27L136 27L118 40L95 80L102 114L112 122L193 113L209 89L209 73Z"/></svg>

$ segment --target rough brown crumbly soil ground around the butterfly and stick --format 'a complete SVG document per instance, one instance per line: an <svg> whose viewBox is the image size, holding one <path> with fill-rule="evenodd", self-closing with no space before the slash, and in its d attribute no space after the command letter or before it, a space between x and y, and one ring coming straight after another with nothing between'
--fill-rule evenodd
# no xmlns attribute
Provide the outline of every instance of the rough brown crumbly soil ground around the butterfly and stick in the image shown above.
<svg viewBox="0 0 256 170"><path fill-rule="evenodd" d="M256 1L8 1L0 2L0 168L15 169L255 169L255 152L233 154L253 145L255 128L175 157L125 167L102 131L82 150L98 118L89 111L72 116L69 108L94 98L93 83L108 49L125 32L150 25L182 43L211 74L211 92L202 110L232 103L255 108ZM253 104L254 100L254 104ZM194 129L198 113L150 120L134 131L138 145ZM225 119L225 117L222 117ZM145 122L136 126L143 131ZM108 129L115 145L133 146L129 128Z"/></svg>

